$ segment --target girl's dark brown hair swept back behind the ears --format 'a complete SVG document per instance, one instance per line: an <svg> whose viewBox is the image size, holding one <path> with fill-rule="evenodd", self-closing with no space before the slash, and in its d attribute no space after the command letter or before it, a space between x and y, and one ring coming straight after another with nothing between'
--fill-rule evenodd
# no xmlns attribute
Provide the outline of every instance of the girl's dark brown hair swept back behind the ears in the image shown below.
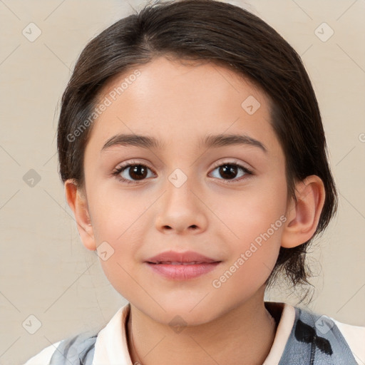
<svg viewBox="0 0 365 365"><path fill-rule="evenodd" d="M280 248L267 280L284 274L293 287L309 284L306 253L336 214L338 197L312 83L301 58L277 31L249 11L215 0L160 1L146 5L93 38L83 49L63 93L58 121L59 173L83 190L83 155L92 125L77 138L107 82L157 56L209 61L250 79L269 96L271 123L282 145L288 194L309 175L323 180L325 201L316 232L298 247Z"/></svg>

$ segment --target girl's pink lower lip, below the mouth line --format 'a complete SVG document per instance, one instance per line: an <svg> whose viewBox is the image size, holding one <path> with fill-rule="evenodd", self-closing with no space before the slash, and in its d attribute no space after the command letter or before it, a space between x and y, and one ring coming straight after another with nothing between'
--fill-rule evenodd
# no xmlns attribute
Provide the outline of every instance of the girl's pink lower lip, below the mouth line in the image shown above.
<svg viewBox="0 0 365 365"><path fill-rule="evenodd" d="M173 264L150 264L146 262L153 271L173 280L187 280L200 277L214 270L220 262L205 262L204 264L173 265Z"/></svg>

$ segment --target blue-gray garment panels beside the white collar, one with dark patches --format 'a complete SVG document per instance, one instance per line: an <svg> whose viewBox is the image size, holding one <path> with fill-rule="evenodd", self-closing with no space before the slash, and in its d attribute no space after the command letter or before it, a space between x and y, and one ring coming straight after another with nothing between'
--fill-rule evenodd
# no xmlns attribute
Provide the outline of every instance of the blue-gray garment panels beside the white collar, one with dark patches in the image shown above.
<svg viewBox="0 0 365 365"><path fill-rule="evenodd" d="M50 365L92 365L96 334L63 339ZM248 365L245 361L242 364ZM349 345L329 317L295 307L295 320L279 365L357 365Z"/></svg>

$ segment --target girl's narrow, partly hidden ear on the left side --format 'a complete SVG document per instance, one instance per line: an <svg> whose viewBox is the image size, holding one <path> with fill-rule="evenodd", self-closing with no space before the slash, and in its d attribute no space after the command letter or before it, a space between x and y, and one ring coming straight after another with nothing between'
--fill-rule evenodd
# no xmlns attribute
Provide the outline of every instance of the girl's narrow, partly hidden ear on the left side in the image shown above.
<svg viewBox="0 0 365 365"><path fill-rule="evenodd" d="M71 207L73 215L75 216L78 234L81 237L83 245L88 250L95 251L96 243L93 234L93 226L91 225L90 214L88 212L86 193L78 188L73 179L66 180L65 193L68 205Z"/></svg>

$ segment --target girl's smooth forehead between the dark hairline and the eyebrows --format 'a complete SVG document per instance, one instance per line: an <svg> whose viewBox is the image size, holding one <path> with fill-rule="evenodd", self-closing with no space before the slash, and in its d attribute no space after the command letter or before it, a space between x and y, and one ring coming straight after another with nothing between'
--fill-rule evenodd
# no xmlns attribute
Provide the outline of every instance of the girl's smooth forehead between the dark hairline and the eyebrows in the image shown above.
<svg viewBox="0 0 365 365"><path fill-rule="evenodd" d="M116 133L153 135L164 146L201 147L203 137L219 133L274 143L267 96L249 80L207 61L155 58L113 77L98 101L108 104L89 138L98 150Z"/></svg>

